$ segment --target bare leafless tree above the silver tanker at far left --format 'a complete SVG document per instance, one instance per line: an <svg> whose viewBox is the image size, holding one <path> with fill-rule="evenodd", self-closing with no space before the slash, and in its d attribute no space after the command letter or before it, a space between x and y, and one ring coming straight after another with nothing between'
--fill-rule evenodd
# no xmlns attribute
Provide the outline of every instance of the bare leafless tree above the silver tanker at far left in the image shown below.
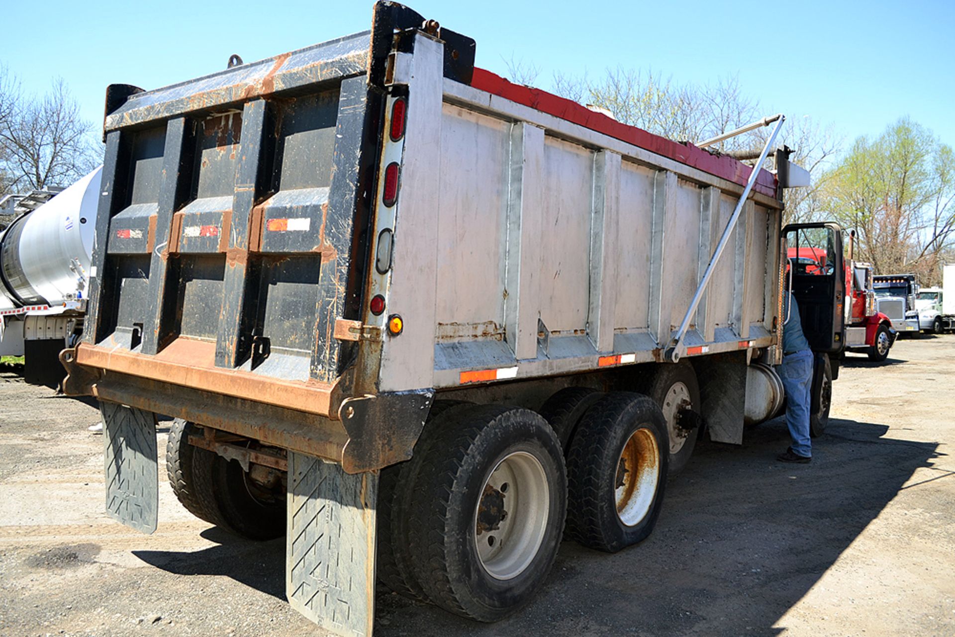
<svg viewBox="0 0 955 637"><path fill-rule="evenodd" d="M96 166L92 127L62 79L35 98L20 95L15 78L4 77L0 93L6 109L0 111L0 170L9 190L69 185Z"/></svg>

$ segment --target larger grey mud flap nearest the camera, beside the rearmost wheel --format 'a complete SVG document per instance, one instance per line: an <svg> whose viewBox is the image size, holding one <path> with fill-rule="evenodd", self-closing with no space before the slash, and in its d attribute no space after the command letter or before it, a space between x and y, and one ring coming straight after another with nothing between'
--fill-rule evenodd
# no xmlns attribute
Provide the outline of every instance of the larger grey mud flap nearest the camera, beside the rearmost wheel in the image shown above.
<svg viewBox="0 0 955 637"><path fill-rule="evenodd" d="M286 596L338 635L371 635L378 474L288 453Z"/></svg>

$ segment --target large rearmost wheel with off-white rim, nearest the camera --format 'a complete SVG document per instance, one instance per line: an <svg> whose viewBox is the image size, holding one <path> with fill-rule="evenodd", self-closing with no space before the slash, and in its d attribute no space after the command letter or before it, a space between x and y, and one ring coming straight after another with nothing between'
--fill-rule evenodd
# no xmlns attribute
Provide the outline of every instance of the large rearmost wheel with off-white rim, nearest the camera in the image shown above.
<svg viewBox="0 0 955 637"><path fill-rule="evenodd" d="M529 410L483 405L445 415L454 417L435 427L412 497L414 574L435 605L495 622L534 597L557 557L561 444Z"/></svg>

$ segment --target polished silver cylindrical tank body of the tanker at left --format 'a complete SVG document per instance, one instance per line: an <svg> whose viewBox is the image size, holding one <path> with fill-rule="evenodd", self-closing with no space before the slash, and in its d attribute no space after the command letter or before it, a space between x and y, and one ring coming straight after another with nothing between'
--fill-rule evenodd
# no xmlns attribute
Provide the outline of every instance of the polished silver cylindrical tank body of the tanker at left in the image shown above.
<svg viewBox="0 0 955 637"><path fill-rule="evenodd" d="M0 234L0 309L86 295L101 167Z"/></svg>

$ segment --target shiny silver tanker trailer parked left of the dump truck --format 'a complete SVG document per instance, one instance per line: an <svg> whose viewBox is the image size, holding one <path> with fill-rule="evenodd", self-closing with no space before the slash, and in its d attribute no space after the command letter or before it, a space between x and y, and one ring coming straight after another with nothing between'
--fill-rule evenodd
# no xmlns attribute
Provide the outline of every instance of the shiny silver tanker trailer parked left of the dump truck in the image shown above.
<svg viewBox="0 0 955 637"><path fill-rule="evenodd" d="M0 233L0 355L25 356L27 382L55 387L82 332L100 169Z"/></svg>

